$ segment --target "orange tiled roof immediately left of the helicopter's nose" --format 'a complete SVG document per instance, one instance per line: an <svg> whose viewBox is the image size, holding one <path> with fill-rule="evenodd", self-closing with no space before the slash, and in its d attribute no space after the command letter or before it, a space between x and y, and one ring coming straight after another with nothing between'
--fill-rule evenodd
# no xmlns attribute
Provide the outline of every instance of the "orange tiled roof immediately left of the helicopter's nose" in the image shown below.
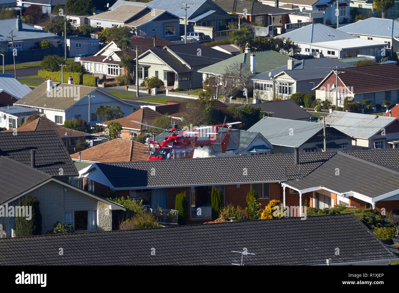
<svg viewBox="0 0 399 293"><path fill-rule="evenodd" d="M79 159L79 152L71 155L72 159ZM115 138L97 146L81 151L80 159L99 163L144 161L148 158L148 146L134 140Z"/></svg>

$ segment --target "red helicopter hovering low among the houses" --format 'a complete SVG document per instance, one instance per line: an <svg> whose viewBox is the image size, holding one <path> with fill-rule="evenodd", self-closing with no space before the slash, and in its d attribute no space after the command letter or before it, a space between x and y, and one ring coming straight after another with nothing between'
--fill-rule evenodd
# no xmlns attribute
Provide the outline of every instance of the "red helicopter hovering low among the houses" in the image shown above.
<svg viewBox="0 0 399 293"><path fill-rule="evenodd" d="M194 157L194 149L195 147L203 147L210 146L212 144L220 144L221 152L225 153L227 149L227 145L229 144L229 139L231 135L231 130L228 130L221 140L221 142L215 142L217 136L218 127L227 126L231 127L233 124L239 124L241 122L232 122L232 123L223 123L213 126L203 126L196 127L192 129L186 130L178 130L176 128L172 128L170 130L163 129L151 125L147 125L138 121L133 121L135 123L142 124L144 126L149 126L152 128L157 128L163 130L164 132L172 133L171 136L167 136L165 140L159 144L158 142L151 141L150 143L153 145L152 151L148 156L147 161L154 160L165 160L165 159L189 159ZM209 129L213 128L213 132L199 132L201 129ZM183 135L179 135L178 133L182 133ZM201 135L209 136L209 139L198 140L198 137Z"/></svg>

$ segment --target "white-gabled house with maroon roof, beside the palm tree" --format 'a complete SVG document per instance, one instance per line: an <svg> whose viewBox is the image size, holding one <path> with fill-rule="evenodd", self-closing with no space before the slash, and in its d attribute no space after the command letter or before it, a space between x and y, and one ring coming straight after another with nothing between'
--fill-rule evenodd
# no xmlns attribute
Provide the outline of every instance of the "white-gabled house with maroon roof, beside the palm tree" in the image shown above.
<svg viewBox="0 0 399 293"><path fill-rule="evenodd" d="M161 49L166 45L174 45L174 43L156 36L133 36L130 38L130 42L132 43L132 47L138 48L139 55L146 52L150 47ZM126 53L130 58L136 58L136 49L127 49ZM96 76L100 76L101 78L115 78L123 70L120 65L120 57L122 55L124 55L124 52L118 48L118 41L112 41L93 56L86 57L80 62L85 66L87 71Z"/></svg>

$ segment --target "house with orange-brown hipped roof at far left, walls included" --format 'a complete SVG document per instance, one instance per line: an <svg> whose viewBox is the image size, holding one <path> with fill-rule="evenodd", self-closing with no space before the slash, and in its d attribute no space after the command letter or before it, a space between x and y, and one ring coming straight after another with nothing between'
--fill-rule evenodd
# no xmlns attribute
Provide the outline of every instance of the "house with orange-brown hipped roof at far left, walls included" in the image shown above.
<svg viewBox="0 0 399 293"><path fill-rule="evenodd" d="M81 132L78 130L62 127L46 117L39 117L30 122L29 124L26 124L25 126L22 127L18 127L17 129L18 132L41 131L41 130L55 130L56 132L58 132L62 142L67 147L67 149L74 149L78 142L84 142L85 137L89 135L86 132ZM6 130L5 132L13 132L13 131L14 131L13 129L10 129Z"/></svg>

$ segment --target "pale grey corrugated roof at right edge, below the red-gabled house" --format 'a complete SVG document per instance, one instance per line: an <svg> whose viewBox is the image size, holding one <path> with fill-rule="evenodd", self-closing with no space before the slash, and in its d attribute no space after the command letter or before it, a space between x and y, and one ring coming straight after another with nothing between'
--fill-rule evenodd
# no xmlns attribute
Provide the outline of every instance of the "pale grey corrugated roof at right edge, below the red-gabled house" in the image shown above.
<svg viewBox="0 0 399 293"><path fill-rule="evenodd" d="M377 117L377 118L376 118ZM384 117L369 114L334 111L325 116L326 124L333 126L348 136L369 139L396 120L395 117ZM323 120L319 124L322 126Z"/></svg>

